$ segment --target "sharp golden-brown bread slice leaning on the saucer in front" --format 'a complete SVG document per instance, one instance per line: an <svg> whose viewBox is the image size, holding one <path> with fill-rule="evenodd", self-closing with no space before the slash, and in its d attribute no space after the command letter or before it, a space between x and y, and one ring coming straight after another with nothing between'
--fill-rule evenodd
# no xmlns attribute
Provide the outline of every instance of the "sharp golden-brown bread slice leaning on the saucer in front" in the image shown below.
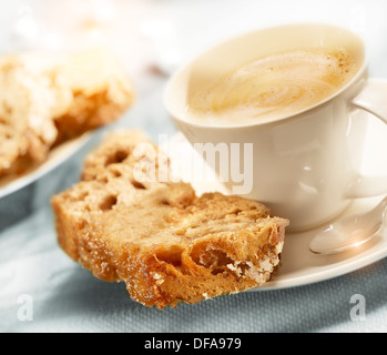
<svg viewBox="0 0 387 355"><path fill-rule="evenodd" d="M62 248L159 308L264 284L279 262L288 221L255 201L139 181L144 162L152 173L162 169L159 156L140 132L111 133L86 158L82 181L52 199Z"/></svg>

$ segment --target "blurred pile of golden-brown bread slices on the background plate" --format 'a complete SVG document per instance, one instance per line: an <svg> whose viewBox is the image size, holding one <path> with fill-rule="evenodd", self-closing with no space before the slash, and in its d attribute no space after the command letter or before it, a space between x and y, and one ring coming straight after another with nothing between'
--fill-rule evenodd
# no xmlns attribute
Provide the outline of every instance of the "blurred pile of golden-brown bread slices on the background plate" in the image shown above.
<svg viewBox="0 0 387 355"><path fill-rule="evenodd" d="M102 50L0 55L0 179L116 120L133 98L125 71Z"/></svg>

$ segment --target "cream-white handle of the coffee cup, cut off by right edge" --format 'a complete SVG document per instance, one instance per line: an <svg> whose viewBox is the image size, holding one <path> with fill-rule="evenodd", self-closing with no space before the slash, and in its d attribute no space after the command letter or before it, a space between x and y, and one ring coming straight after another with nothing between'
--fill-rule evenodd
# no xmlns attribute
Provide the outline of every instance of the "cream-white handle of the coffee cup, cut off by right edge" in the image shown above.
<svg viewBox="0 0 387 355"><path fill-rule="evenodd" d="M387 124L387 80L369 79L353 100L356 109L365 110ZM387 176L357 175L348 185L347 199L370 197L387 192Z"/></svg>

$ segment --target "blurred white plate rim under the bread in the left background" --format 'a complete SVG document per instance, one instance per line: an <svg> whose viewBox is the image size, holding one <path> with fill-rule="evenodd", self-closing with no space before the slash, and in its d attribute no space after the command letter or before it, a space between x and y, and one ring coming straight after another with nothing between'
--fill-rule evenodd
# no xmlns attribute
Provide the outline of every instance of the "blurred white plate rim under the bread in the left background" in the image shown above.
<svg viewBox="0 0 387 355"><path fill-rule="evenodd" d="M53 149L47 159L47 161L37 168L30 169L18 178L4 178L0 181L0 199L17 192L20 189L33 183L38 179L42 178L67 159L75 154L82 149L90 140L91 133L85 133L77 139L68 141Z"/></svg>

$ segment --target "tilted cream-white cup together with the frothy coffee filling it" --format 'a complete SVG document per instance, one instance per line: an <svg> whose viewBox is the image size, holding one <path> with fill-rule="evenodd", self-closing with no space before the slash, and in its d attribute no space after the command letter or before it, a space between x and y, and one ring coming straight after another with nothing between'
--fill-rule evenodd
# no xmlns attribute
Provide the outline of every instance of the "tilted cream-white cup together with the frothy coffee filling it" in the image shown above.
<svg viewBox="0 0 387 355"><path fill-rule="evenodd" d="M386 176L361 175L354 163L366 132L356 112L387 123L386 98L387 80L368 78L358 36L304 23L242 34L200 54L170 79L165 106L195 149L224 152L206 160L224 190L242 194L243 171L252 182L244 197L305 231L353 199L386 193Z"/></svg>

